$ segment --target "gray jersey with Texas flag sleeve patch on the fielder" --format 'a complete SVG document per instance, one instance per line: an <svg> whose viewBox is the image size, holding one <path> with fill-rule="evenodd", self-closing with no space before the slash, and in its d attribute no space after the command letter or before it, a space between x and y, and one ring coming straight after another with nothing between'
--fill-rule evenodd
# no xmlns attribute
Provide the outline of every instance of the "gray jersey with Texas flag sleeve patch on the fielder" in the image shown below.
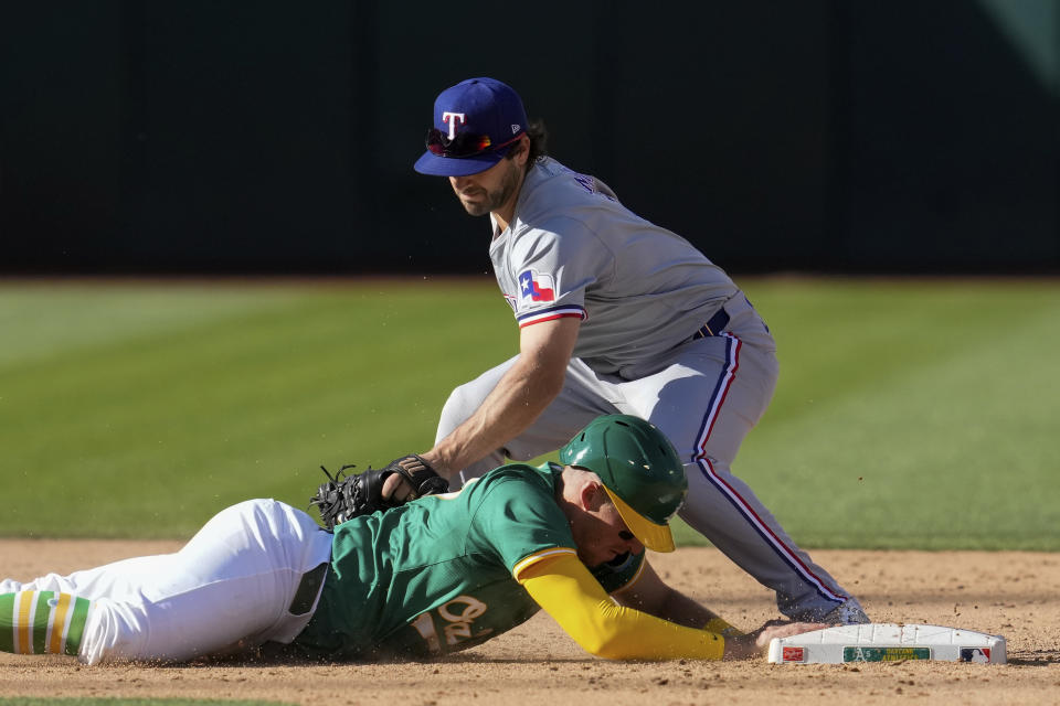
<svg viewBox="0 0 1060 706"><path fill-rule="evenodd" d="M553 159L527 175L489 255L519 325L583 319L574 356L600 373L657 359L738 291L688 240Z"/></svg>

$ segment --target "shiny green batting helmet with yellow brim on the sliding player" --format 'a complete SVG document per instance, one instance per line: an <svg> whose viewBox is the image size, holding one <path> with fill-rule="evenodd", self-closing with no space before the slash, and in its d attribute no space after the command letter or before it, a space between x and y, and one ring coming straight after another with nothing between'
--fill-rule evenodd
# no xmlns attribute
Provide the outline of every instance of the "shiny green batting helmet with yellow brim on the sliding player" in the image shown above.
<svg viewBox="0 0 1060 706"><path fill-rule="evenodd" d="M685 466L655 425L628 415L596 417L560 449L560 461L604 484L629 532L654 552L672 552L669 522L688 494Z"/></svg>

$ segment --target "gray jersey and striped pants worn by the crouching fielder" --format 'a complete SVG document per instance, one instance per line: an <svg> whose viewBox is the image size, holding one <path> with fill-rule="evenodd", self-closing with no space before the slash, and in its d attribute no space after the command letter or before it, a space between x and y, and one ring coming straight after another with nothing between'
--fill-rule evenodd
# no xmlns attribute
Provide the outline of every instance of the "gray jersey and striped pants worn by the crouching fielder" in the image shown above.
<svg viewBox="0 0 1060 706"><path fill-rule="evenodd" d="M562 392L462 478L506 457L549 453L597 415L636 415L661 429L686 463L681 517L774 589L782 612L817 620L852 601L730 470L778 368L773 336L729 276L598 180L552 159L528 172L509 227L492 224L490 257L519 325L562 317L582 323ZM475 413L517 357L453 392L437 439Z"/></svg>

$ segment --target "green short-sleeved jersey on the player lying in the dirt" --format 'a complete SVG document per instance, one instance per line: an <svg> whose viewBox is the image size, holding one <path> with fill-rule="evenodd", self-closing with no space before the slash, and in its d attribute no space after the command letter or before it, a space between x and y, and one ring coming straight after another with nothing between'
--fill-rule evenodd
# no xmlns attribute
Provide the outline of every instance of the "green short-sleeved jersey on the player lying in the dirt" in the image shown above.
<svg viewBox="0 0 1060 706"><path fill-rule="evenodd" d="M555 502L561 468L512 463L458 492L357 517L335 530L328 577L294 646L320 660L445 654L524 622L537 602L516 577L575 553ZM644 555L595 567L608 592Z"/></svg>

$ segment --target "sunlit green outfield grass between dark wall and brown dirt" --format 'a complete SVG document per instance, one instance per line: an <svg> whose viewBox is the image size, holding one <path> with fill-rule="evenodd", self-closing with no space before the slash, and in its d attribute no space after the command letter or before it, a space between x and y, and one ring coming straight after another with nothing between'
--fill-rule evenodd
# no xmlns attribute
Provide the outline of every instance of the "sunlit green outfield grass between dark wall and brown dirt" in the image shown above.
<svg viewBox="0 0 1060 706"><path fill-rule="evenodd" d="M1060 549L1060 284L741 284L782 378L734 470L799 543ZM0 284L0 535L305 506L320 463L428 448L517 342L485 278Z"/></svg>

